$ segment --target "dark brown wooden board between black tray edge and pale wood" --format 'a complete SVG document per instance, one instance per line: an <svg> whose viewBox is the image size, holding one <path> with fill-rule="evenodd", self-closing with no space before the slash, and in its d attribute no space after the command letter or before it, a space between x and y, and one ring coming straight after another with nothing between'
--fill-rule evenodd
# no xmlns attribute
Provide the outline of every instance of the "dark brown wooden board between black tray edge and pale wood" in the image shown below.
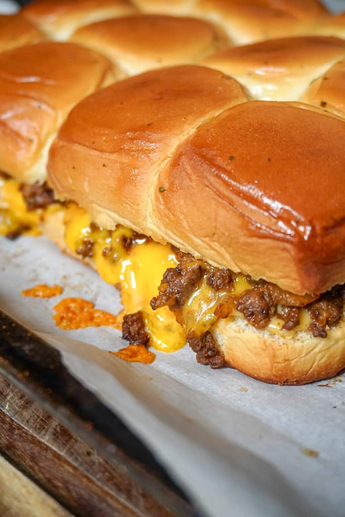
<svg viewBox="0 0 345 517"><path fill-rule="evenodd" d="M172 515L131 480L124 466L108 464L2 376L1 450L77 517Z"/></svg>

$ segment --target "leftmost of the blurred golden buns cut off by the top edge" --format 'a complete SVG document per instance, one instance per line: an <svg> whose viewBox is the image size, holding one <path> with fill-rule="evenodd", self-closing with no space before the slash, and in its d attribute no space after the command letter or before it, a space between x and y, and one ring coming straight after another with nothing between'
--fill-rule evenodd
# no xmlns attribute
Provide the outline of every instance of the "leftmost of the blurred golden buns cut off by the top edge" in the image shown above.
<svg viewBox="0 0 345 517"><path fill-rule="evenodd" d="M134 12L127 0L36 0L21 14L52 39L65 40L81 25Z"/></svg>

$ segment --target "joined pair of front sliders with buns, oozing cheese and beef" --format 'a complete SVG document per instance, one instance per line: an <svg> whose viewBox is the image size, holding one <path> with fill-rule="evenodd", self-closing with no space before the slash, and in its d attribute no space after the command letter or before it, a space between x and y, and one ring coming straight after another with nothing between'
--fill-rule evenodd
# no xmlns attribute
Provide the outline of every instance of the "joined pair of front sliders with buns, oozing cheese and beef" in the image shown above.
<svg viewBox="0 0 345 517"><path fill-rule="evenodd" d="M123 336L262 381L345 367L345 120L154 70L82 100L51 146L44 223L121 287Z"/></svg>

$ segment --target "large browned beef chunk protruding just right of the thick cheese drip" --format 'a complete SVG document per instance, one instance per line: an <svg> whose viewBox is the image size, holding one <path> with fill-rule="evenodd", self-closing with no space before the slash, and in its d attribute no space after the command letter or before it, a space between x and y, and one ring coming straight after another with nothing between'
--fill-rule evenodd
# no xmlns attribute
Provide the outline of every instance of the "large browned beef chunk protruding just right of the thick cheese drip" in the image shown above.
<svg viewBox="0 0 345 517"><path fill-rule="evenodd" d="M158 287L159 294L152 298L150 305L155 311L168 306L172 311L181 309L202 276L201 266L197 263L178 264L166 270Z"/></svg>

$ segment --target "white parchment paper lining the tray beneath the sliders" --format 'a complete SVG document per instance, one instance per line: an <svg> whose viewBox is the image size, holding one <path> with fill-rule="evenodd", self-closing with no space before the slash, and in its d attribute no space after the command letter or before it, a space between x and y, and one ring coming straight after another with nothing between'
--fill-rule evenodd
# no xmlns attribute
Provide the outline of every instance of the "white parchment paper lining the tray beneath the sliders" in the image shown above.
<svg viewBox="0 0 345 517"><path fill-rule="evenodd" d="M21 296L38 283L64 292ZM129 364L108 354L124 345L116 329L55 327L53 306L68 296L113 313L121 307L111 285L45 238L0 238L0 307L57 347L209 515L344 515L344 377L270 386L202 367L189 347L157 352L151 365Z"/></svg>

